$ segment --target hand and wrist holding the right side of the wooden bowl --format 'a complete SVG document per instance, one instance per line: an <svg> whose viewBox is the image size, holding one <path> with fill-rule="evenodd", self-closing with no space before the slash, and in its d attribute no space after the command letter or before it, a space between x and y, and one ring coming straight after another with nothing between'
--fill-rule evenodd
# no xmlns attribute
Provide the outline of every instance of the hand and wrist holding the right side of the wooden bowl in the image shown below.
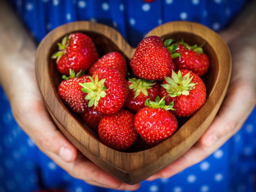
<svg viewBox="0 0 256 192"><path fill-rule="evenodd" d="M230 84L220 110L200 140L147 180L169 178L202 161L242 127L256 103L256 33L250 32L232 39L230 30L220 33L229 45L233 60Z"/></svg>

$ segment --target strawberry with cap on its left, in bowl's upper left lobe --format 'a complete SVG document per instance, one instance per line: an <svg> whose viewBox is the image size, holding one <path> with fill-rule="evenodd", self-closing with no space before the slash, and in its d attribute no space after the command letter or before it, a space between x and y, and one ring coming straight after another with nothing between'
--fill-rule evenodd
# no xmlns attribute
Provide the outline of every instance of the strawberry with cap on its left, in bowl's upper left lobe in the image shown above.
<svg viewBox="0 0 256 192"><path fill-rule="evenodd" d="M80 70L87 71L99 58L92 39L83 33L73 33L65 36L62 43L58 43L59 51L52 55L57 59L57 68L60 73L68 75L69 68L75 73Z"/></svg>

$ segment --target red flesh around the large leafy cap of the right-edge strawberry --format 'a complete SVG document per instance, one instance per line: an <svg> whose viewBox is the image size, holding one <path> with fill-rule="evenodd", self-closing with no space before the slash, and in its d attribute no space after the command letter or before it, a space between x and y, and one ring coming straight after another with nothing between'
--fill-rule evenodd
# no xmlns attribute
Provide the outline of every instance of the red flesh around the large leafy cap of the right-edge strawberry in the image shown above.
<svg viewBox="0 0 256 192"><path fill-rule="evenodd" d="M180 70L182 76L189 73L187 69ZM206 88L202 79L195 73L190 72L189 77L193 77L191 83L196 83L195 88L189 91L189 95L180 95L176 97L170 97L169 93L161 87L160 98L165 96L165 103L168 105L172 101L174 102L173 108L176 109L172 111L175 116L184 117L191 116L196 113L196 111L204 104L206 100ZM171 77L171 76L170 76ZM166 84L164 80L162 84Z"/></svg>

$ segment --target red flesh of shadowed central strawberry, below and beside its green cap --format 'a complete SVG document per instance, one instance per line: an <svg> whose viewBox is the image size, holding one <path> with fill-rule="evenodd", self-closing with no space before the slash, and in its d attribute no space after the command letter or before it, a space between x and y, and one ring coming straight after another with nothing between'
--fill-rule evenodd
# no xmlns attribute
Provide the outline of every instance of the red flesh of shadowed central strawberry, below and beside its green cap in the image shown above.
<svg viewBox="0 0 256 192"><path fill-rule="evenodd" d="M128 86L132 84L129 80L127 80ZM150 100L156 100L156 96L160 92L160 85L158 82L151 86L152 88L147 89L148 96L144 95L142 92L134 98L135 92L132 89L129 89L130 93L127 97L127 100L124 104L124 107L129 109L130 111L136 113L139 109L145 107L145 101L149 98Z"/></svg>

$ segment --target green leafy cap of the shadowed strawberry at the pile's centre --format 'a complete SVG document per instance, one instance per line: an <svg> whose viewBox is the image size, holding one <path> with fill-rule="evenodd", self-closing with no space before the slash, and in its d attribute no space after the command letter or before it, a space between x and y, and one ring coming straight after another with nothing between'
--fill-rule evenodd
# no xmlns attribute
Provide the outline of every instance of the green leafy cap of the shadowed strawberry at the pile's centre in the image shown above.
<svg viewBox="0 0 256 192"><path fill-rule="evenodd" d="M129 89L133 89L133 91L135 92L134 99L138 97L140 92L142 92L145 96L148 96L147 89L151 89L152 88L151 86L156 84L156 83L146 81L144 79L136 79L136 78L129 79L129 81L132 83L129 85Z"/></svg>

